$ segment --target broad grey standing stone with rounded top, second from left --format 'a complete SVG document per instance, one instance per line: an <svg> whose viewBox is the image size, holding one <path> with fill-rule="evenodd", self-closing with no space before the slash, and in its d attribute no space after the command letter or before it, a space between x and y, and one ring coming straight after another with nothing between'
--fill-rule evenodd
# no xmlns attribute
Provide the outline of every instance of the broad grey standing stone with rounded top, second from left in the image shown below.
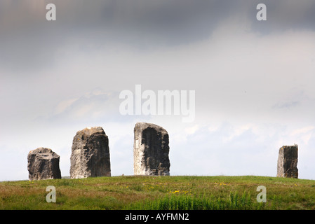
<svg viewBox="0 0 315 224"><path fill-rule="evenodd" d="M70 177L111 176L108 137L102 127L76 132L72 142Z"/></svg>

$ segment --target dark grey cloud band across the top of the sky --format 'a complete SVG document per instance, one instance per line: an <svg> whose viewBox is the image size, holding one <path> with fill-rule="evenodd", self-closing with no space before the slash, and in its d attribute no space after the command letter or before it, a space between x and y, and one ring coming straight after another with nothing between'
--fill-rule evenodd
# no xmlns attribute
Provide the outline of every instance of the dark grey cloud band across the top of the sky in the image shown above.
<svg viewBox="0 0 315 224"><path fill-rule="evenodd" d="M76 44L98 50L113 44L135 50L187 45L209 38L224 20L250 22L251 31L269 34L286 29L315 28L315 2L269 1L267 21L258 22L261 1L227 0L55 0L57 21L46 21L51 1L1 1L0 66L8 71L47 69ZM229 20L230 21L230 20ZM229 29L230 26L227 26Z"/></svg>

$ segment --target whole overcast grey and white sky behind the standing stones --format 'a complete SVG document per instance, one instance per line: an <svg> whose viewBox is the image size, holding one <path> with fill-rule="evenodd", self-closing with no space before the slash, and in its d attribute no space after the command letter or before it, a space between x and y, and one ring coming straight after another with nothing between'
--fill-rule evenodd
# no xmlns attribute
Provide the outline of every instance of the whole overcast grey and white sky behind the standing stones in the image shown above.
<svg viewBox="0 0 315 224"><path fill-rule="evenodd" d="M133 175L140 121L168 131L170 175L276 176L279 148L297 144L299 178L315 179L312 0L0 0L0 49L0 181L28 179L38 147L69 176L74 135L95 126L112 176ZM122 115L136 85L194 90L194 120Z"/></svg>

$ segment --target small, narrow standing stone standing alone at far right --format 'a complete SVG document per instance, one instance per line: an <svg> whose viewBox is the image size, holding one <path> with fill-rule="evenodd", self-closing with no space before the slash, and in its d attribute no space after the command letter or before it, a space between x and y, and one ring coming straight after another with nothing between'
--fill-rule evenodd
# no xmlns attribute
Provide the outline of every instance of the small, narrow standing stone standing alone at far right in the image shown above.
<svg viewBox="0 0 315 224"><path fill-rule="evenodd" d="M276 176L297 178L297 151L297 145L282 146L279 149Z"/></svg>

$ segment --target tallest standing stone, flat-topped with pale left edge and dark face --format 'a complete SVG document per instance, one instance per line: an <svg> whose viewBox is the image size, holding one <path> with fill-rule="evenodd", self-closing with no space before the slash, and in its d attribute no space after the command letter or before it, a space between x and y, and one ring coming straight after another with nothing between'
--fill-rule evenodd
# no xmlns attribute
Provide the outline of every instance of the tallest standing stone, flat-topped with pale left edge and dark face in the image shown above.
<svg viewBox="0 0 315 224"><path fill-rule="evenodd" d="M136 123L133 144L135 175L170 175L168 132L149 123Z"/></svg>

